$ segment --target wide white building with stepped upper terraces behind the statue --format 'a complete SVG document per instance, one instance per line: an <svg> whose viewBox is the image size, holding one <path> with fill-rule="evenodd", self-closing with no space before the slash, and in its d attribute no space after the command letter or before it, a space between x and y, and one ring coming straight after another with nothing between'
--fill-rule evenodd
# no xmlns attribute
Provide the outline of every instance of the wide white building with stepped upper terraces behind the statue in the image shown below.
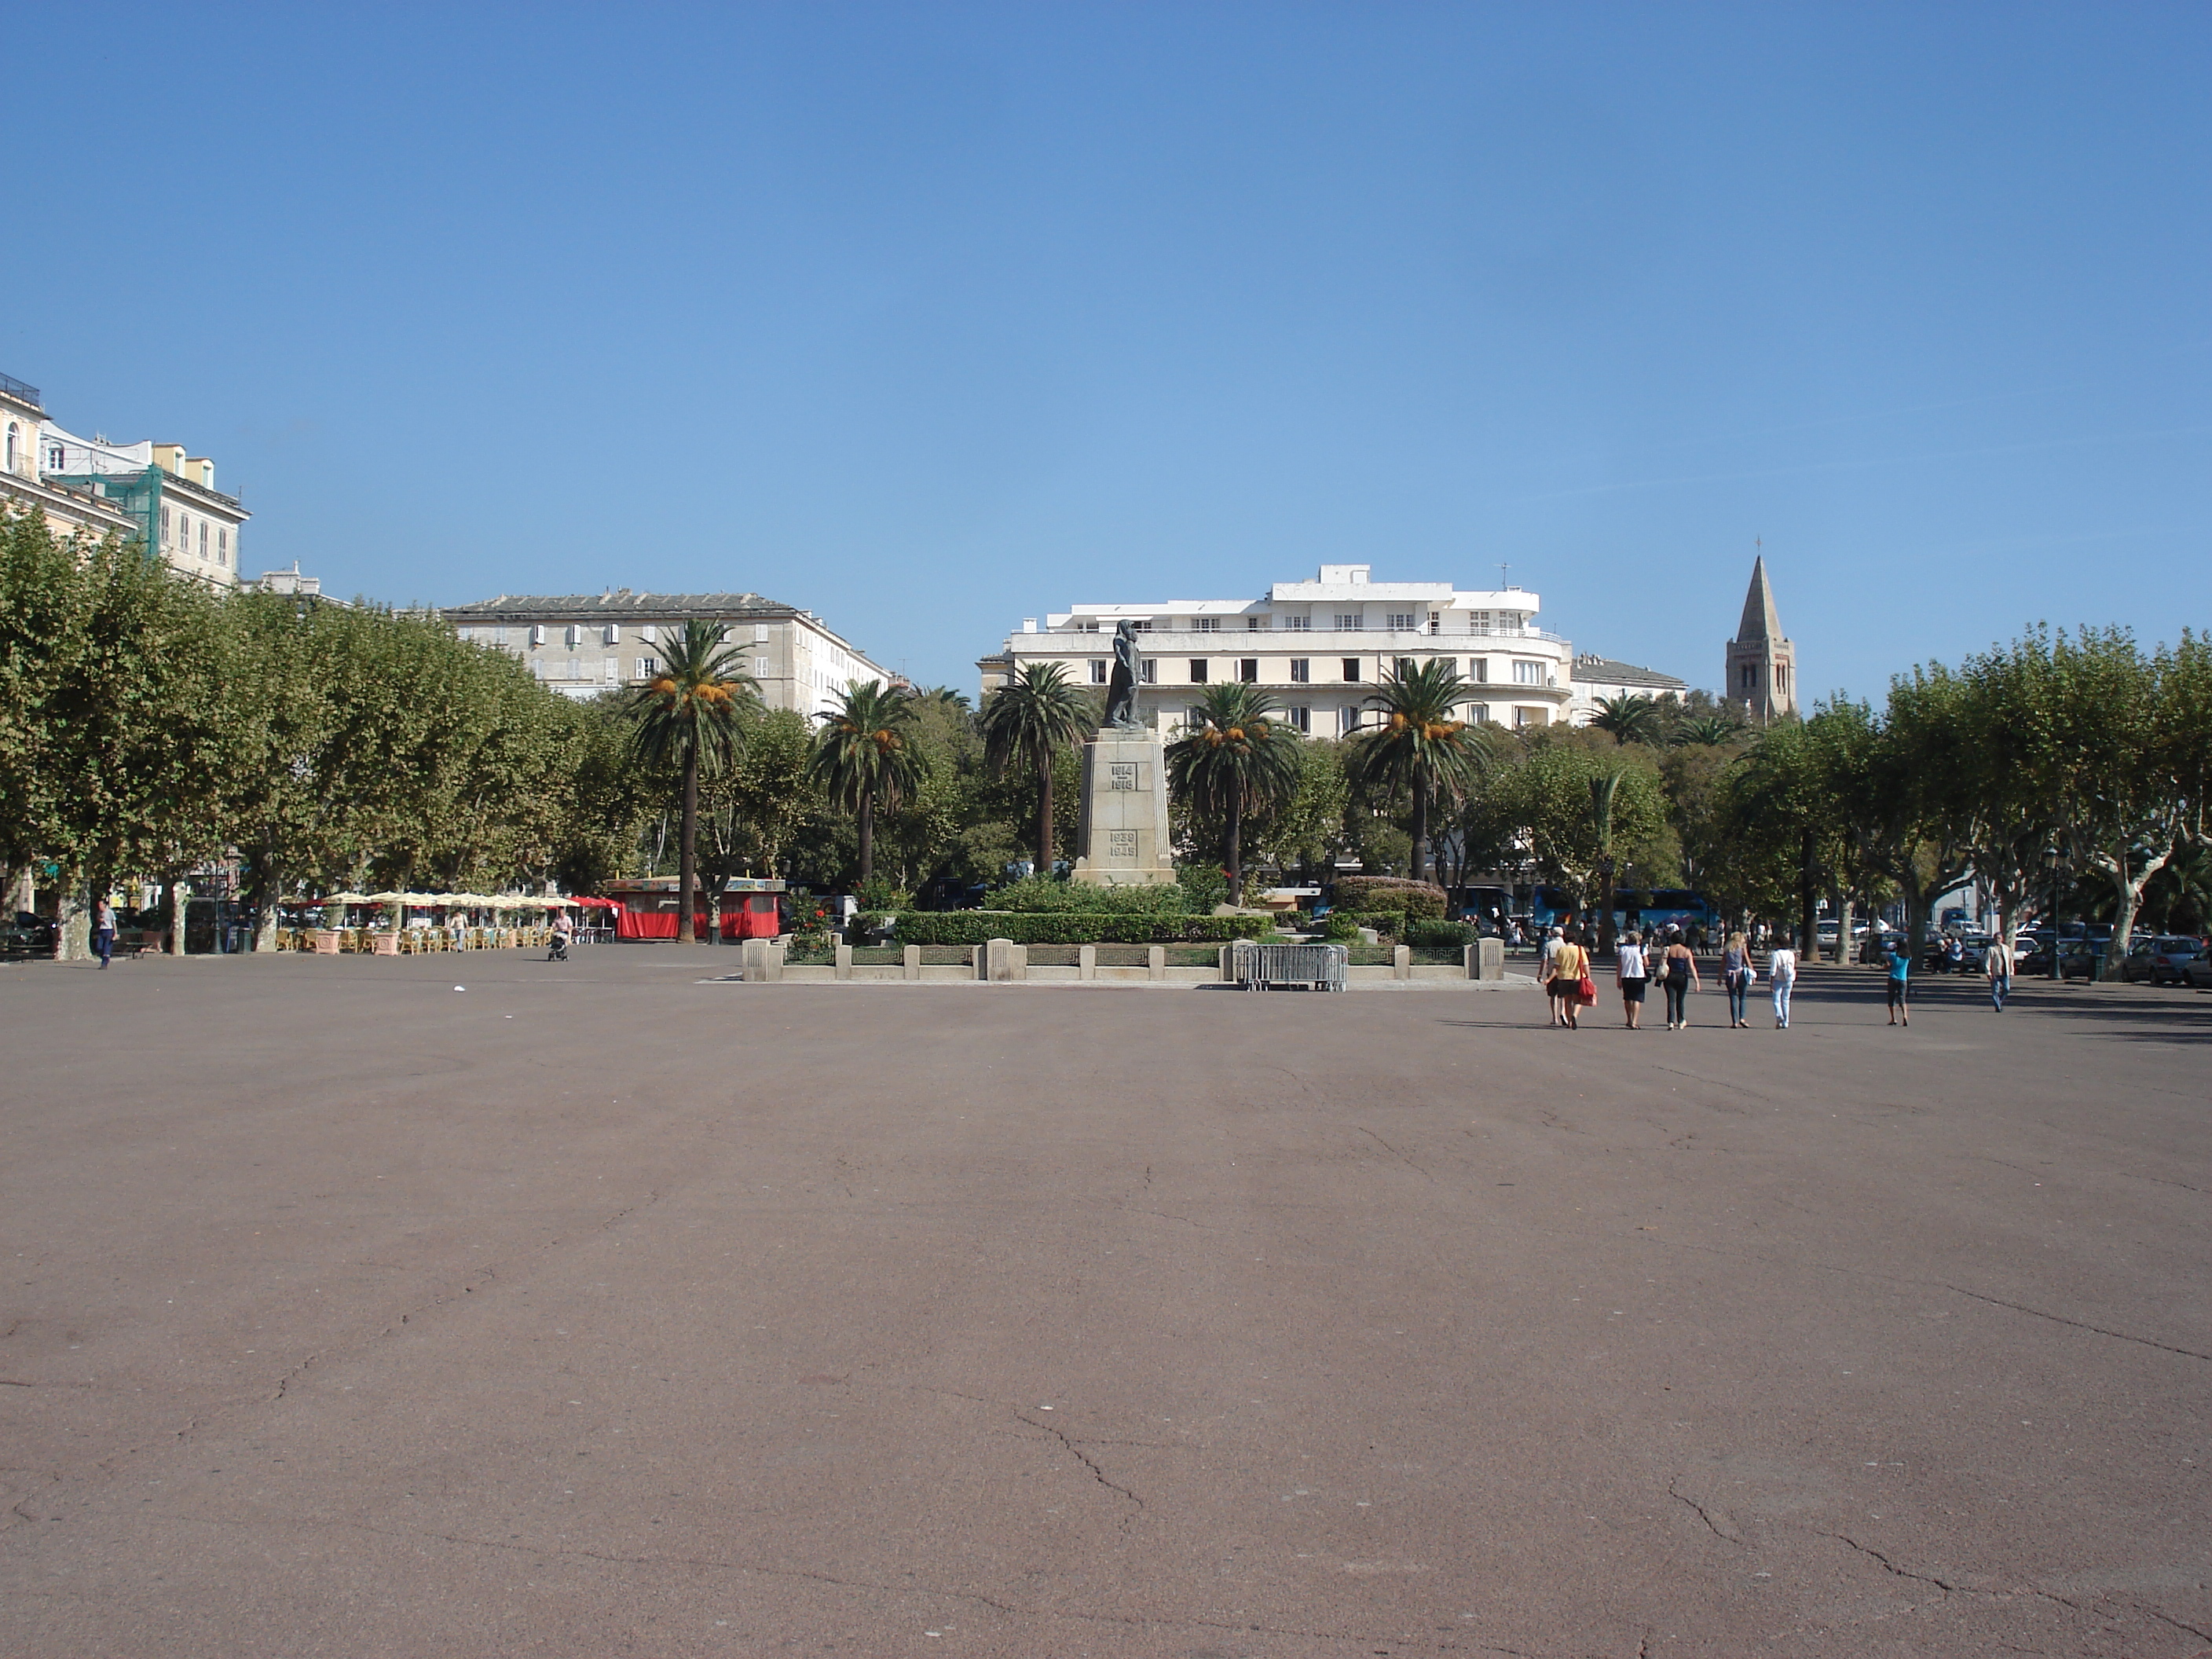
<svg viewBox="0 0 2212 1659"><path fill-rule="evenodd" d="M1077 686L1104 690L1113 635L1133 622L1141 637L1137 712L1172 732L1199 688L1241 679L1265 686L1292 726L1345 737L1374 723L1367 699L1396 661L1451 664L1467 679L1464 719L1551 726L1566 719L1575 648L1535 626L1537 595L1524 588L1467 591L1449 582L1376 582L1367 564L1323 564L1312 582L1276 582L1261 599L1168 599L1079 604L1033 617L980 659L984 695L1018 666L1068 664Z"/></svg>

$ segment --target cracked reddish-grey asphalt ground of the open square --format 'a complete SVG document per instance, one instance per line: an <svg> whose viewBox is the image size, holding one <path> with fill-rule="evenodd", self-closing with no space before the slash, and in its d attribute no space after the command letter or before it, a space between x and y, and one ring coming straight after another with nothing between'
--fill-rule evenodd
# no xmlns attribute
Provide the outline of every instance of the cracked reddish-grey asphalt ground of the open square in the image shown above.
<svg viewBox="0 0 2212 1659"><path fill-rule="evenodd" d="M732 956L0 969L0 1652L2212 1650L2212 998Z"/></svg>

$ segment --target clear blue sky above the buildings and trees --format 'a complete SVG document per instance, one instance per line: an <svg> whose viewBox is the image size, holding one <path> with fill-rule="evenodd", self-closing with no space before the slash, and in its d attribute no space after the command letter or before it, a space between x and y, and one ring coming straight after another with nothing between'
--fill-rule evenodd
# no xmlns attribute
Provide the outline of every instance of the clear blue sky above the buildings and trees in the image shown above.
<svg viewBox="0 0 2212 1659"><path fill-rule="evenodd" d="M0 372L250 571L922 681L1323 560L1807 690L2212 624L2203 7L7 4ZM31 73L24 73L31 71Z"/></svg>

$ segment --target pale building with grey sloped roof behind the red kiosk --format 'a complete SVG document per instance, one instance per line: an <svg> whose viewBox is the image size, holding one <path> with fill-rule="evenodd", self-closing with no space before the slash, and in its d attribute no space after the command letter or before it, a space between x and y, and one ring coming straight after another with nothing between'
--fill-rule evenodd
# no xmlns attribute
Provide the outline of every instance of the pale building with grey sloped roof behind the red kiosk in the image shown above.
<svg viewBox="0 0 2212 1659"><path fill-rule="evenodd" d="M661 639L701 617L721 624L739 648L739 668L761 684L770 708L814 717L854 681L898 675L832 633L812 611L759 593L606 593L509 595L445 606L462 639L500 646L566 697L597 697L641 686L661 670Z"/></svg>

